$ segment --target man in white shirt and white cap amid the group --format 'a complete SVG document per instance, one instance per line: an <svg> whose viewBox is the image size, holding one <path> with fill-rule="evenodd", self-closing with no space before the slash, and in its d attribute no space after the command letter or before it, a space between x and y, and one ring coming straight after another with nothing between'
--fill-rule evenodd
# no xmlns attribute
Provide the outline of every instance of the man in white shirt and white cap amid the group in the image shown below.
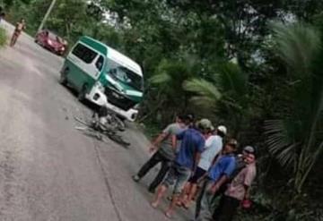
<svg viewBox="0 0 323 221"><path fill-rule="evenodd" d="M226 127L223 125L218 126L214 135L213 126L211 126L210 129L210 132L205 136L205 150L201 154L201 159L198 163L195 174L188 180L182 194L181 203L184 208L189 207L191 201L196 195L197 181L199 181L214 164L216 157L218 157L218 154L223 149L223 138L227 132Z"/></svg>

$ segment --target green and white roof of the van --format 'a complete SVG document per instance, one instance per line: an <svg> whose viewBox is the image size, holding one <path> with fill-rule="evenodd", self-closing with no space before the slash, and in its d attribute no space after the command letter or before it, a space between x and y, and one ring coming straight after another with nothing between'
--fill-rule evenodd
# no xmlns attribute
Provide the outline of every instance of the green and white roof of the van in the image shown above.
<svg viewBox="0 0 323 221"><path fill-rule="evenodd" d="M80 41L86 45L93 47L103 55L107 55L107 57L112 61L121 65L124 65L129 70L137 73L140 76L143 76L143 71L139 66L139 64L136 64L135 61L133 61L126 55L119 53L117 50L113 49L112 47L109 47L103 44L102 42L100 42L99 40L96 40L87 36L83 36L82 38L80 38Z"/></svg>

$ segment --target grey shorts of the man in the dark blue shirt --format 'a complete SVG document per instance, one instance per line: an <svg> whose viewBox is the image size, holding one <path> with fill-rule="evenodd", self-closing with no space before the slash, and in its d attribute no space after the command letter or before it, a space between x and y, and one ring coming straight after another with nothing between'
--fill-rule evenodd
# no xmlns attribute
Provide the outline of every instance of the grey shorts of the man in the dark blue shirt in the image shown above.
<svg viewBox="0 0 323 221"><path fill-rule="evenodd" d="M191 170L187 167L173 164L162 184L166 187L174 185L173 193L179 194L183 190L184 185L188 182L190 174Z"/></svg>

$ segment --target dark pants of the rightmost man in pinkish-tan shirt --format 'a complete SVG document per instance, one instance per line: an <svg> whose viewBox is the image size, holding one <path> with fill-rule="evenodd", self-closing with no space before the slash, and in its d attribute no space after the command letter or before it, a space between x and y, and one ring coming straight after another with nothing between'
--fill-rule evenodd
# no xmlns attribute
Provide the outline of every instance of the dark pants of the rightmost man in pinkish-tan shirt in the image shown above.
<svg viewBox="0 0 323 221"><path fill-rule="evenodd" d="M214 219L216 221L233 220L239 206L240 200L223 195L219 207L215 210Z"/></svg>

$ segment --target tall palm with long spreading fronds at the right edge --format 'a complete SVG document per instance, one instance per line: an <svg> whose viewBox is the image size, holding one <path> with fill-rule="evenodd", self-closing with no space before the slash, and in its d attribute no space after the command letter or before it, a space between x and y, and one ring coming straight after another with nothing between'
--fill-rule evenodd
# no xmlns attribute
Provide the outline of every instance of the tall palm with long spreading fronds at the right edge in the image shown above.
<svg viewBox="0 0 323 221"><path fill-rule="evenodd" d="M274 32L291 106L282 119L266 122L266 143L282 166L292 167L294 188L301 192L323 150L321 41L317 30L301 23L275 24Z"/></svg>

